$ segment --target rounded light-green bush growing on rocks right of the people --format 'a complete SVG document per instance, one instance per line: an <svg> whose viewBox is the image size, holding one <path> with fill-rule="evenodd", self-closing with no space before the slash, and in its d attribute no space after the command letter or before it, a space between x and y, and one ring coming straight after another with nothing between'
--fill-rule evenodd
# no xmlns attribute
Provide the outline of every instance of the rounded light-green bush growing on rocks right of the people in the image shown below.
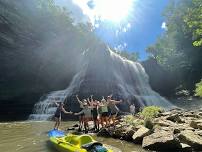
<svg viewBox="0 0 202 152"><path fill-rule="evenodd" d="M148 106L142 110L140 116L143 116L145 120L152 119L155 118L161 111L162 109L158 106Z"/></svg>

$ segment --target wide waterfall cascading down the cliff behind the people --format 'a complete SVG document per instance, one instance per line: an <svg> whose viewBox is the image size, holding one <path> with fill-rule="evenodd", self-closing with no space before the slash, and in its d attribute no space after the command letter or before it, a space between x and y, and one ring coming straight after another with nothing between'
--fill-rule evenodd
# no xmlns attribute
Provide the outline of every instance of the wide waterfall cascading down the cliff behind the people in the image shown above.
<svg viewBox="0 0 202 152"><path fill-rule="evenodd" d="M138 107L147 105L171 107L166 99L151 89L149 78L140 63L123 59L105 45L87 53L81 69L69 87L41 98L34 106L29 119L50 119L56 110L54 101L65 101L68 108L75 111L78 109L78 103L74 98L76 94L86 98L91 94L101 97L112 93L115 98L133 102ZM123 103L122 106L126 107L127 103Z"/></svg>

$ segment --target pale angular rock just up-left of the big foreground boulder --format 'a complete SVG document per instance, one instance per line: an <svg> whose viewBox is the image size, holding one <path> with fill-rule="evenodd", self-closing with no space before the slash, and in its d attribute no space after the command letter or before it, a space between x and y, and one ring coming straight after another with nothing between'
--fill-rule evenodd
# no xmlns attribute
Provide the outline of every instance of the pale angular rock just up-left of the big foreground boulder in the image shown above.
<svg viewBox="0 0 202 152"><path fill-rule="evenodd" d="M150 134L150 130L144 126L138 129L132 136L134 143L142 143L142 139Z"/></svg>

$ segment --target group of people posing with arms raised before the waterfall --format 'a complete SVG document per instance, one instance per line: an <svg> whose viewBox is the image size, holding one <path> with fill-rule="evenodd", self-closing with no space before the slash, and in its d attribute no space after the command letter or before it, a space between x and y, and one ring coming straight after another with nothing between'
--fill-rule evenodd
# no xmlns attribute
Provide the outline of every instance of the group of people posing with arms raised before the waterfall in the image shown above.
<svg viewBox="0 0 202 152"><path fill-rule="evenodd" d="M94 100L93 95L90 98L80 100L76 95L77 101L80 105L81 111L77 113L67 112L63 103L56 103L57 110L55 112L55 126L54 129L58 129L61 122L61 112L66 114L74 114L79 116L79 128L89 130L89 121L94 122L94 129L99 130L99 127L109 127L111 124L115 127L116 116L119 113L119 108L116 106L121 103L122 100L116 101L112 99L112 95L107 96L105 99L102 97L101 101Z"/></svg>

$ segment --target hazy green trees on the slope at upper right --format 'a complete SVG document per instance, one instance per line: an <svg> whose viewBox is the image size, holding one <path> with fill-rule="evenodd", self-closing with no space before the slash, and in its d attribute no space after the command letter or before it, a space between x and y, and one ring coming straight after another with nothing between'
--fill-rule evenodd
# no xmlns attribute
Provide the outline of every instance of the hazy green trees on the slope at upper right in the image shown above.
<svg viewBox="0 0 202 152"><path fill-rule="evenodd" d="M176 85L190 91L202 77L201 6L201 0L171 1L163 14L166 31L147 48L152 58L176 75Z"/></svg>

